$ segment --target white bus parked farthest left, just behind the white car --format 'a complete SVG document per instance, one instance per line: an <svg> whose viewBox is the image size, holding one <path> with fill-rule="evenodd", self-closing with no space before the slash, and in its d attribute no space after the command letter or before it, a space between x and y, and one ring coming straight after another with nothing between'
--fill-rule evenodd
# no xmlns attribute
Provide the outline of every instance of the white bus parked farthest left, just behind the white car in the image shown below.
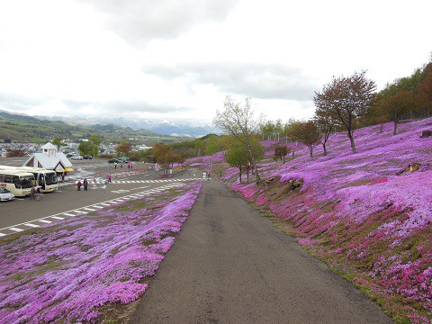
<svg viewBox="0 0 432 324"><path fill-rule="evenodd" d="M15 197L30 195L34 175L21 170L0 169L0 186L14 193Z"/></svg>

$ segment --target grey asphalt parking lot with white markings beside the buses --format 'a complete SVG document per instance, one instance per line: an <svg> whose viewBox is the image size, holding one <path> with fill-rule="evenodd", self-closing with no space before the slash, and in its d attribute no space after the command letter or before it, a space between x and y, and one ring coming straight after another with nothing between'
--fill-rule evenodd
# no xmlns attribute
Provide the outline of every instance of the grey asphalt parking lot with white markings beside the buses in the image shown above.
<svg viewBox="0 0 432 324"><path fill-rule="evenodd" d="M24 160L23 157L2 157L0 165L22 166ZM117 166L115 169L106 161L101 158L73 161L75 171L59 183L58 192L45 193L40 201L25 197L1 202L0 237L202 179L202 172L196 169L161 178L160 172L149 170L148 166L151 165L147 163L134 163L133 168ZM111 183L108 182L109 174L112 174ZM77 191L76 182L83 181L85 177L89 181L88 191Z"/></svg>

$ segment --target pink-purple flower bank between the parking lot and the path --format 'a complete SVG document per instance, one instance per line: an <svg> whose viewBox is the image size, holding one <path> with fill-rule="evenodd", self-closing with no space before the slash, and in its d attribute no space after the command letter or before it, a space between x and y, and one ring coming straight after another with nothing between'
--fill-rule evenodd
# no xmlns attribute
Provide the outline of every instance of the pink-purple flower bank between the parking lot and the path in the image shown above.
<svg viewBox="0 0 432 324"><path fill-rule="evenodd" d="M139 281L156 272L200 188L189 184L151 209L98 211L2 244L0 321L94 322L104 304L133 302L146 291ZM152 200L142 201L151 206Z"/></svg>

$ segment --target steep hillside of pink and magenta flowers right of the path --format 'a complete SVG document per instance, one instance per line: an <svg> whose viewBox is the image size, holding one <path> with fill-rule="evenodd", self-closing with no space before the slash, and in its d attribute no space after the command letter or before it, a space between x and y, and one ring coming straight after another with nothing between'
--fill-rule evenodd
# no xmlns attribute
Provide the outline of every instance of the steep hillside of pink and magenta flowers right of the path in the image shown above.
<svg viewBox="0 0 432 324"><path fill-rule="evenodd" d="M258 166L265 182L239 184L221 154L190 159L222 173L275 225L356 284L398 322L432 321L432 118L357 130L357 153L345 133L330 136L329 156L306 148L281 165L265 142ZM410 164L419 164L410 171ZM404 171L407 168L406 171ZM414 167L416 169L417 167Z"/></svg>

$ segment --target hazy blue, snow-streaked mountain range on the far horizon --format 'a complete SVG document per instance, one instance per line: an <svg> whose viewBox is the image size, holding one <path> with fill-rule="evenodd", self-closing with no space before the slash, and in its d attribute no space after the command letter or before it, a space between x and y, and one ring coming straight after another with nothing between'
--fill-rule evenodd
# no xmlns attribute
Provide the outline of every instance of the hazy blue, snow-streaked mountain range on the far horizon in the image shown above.
<svg viewBox="0 0 432 324"><path fill-rule="evenodd" d="M118 125L129 127L132 130L150 130L152 132L168 135L168 136L181 136L181 137L201 137L206 134L216 133L220 134L221 131L209 124L193 125L191 123L176 123L172 121L148 121L143 119L130 120L125 117L115 118L96 118L96 117L45 117L40 116L40 119L49 119L52 121L64 121L69 125Z"/></svg>

